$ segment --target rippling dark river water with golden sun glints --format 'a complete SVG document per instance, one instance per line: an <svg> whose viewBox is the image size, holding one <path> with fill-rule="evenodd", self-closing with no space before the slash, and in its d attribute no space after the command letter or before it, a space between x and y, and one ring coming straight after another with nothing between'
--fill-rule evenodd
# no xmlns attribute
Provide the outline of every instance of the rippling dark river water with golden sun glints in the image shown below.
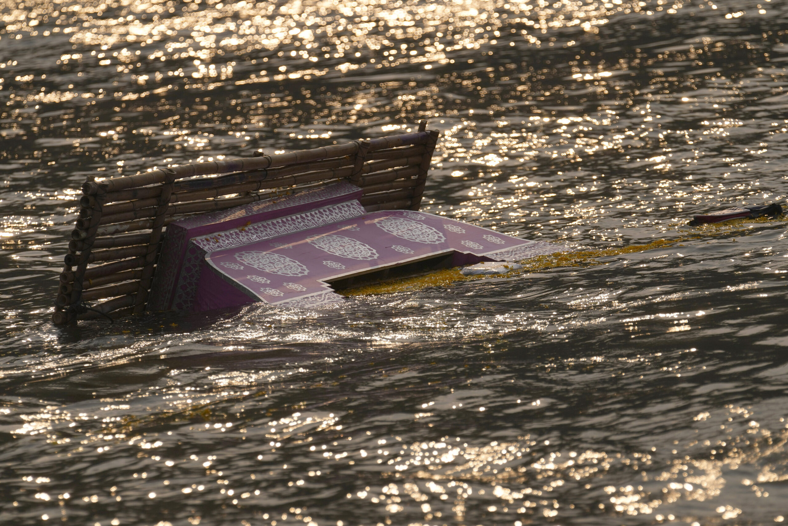
<svg viewBox="0 0 788 526"><path fill-rule="evenodd" d="M788 516L788 5L6 0L0 523ZM440 129L506 278L56 328L86 175ZM635 247L635 248L632 248Z"/></svg>

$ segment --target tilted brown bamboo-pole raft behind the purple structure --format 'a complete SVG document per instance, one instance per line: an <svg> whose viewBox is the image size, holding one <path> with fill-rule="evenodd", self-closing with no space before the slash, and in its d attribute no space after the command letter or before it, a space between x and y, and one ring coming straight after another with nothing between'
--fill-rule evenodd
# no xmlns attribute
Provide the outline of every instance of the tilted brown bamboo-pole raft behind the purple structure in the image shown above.
<svg viewBox="0 0 788 526"><path fill-rule="evenodd" d="M418 211L438 136L421 121L418 132L372 140L104 181L88 177L52 321L64 325L145 311L166 226L182 218L343 179L362 188L359 202L368 212Z"/></svg>

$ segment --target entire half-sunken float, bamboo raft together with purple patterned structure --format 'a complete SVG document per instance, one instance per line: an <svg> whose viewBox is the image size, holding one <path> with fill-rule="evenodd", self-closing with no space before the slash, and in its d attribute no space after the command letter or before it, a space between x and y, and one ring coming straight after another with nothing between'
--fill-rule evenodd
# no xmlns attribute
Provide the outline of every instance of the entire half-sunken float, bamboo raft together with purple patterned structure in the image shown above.
<svg viewBox="0 0 788 526"><path fill-rule="evenodd" d="M203 162L83 185L54 323L266 302L555 252L418 211L438 133ZM97 302L87 304L87 302Z"/></svg>

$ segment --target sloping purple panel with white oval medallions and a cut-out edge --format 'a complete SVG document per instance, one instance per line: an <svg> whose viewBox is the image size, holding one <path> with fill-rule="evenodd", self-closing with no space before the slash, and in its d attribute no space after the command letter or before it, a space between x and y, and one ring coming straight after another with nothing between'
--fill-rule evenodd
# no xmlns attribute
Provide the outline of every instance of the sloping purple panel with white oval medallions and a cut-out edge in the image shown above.
<svg viewBox="0 0 788 526"><path fill-rule="evenodd" d="M327 282L336 279L452 252L460 259L501 261L549 254L556 246L425 212L381 211L211 252L205 260L215 279L206 276L205 284L218 286L222 279L247 297L289 305L333 299ZM202 293L197 291L197 303L207 305Z"/></svg>

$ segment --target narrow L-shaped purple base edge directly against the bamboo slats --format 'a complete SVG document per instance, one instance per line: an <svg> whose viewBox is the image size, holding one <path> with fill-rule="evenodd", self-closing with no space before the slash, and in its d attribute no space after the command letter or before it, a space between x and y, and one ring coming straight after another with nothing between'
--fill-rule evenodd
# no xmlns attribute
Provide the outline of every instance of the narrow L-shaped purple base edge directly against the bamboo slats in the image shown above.
<svg viewBox="0 0 788 526"><path fill-rule="evenodd" d="M205 236L221 230L242 227L249 223L281 218L318 207L355 200L361 195L361 188L342 181L335 185L314 188L292 196L257 201L242 207L195 215L170 223L167 226L167 235L148 297L148 309L163 311L173 308L188 240L192 237Z"/></svg>

